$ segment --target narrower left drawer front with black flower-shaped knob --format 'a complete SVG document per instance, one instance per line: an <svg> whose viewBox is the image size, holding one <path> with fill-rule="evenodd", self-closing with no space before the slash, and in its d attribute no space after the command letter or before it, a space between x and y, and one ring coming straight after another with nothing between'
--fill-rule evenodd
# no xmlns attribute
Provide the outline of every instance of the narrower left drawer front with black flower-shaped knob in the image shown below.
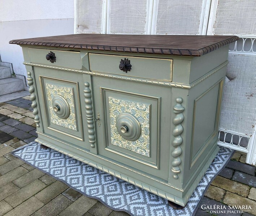
<svg viewBox="0 0 256 216"><path fill-rule="evenodd" d="M29 56L30 62L32 63L48 64L51 66L74 69L89 69L87 53L29 48Z"/></svg>

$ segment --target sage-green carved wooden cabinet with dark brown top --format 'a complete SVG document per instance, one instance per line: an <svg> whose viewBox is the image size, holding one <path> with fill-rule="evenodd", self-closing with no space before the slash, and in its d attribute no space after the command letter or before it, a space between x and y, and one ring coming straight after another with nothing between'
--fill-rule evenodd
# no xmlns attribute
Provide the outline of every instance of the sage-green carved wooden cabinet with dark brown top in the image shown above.
<svg viewBox="0 0 256 216"><path fill-rule="evenodd" d="M218 152L235 36L67 35L22 46L38 138L185 206Z"/></svg>

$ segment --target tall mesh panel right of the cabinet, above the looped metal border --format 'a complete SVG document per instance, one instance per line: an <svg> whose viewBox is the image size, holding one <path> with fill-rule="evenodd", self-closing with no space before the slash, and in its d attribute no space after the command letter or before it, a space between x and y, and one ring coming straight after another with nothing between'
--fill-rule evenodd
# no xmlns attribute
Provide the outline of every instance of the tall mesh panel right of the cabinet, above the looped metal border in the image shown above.
<svg viewBox="0 0 256 216"><path fill-rule="evenodd" d="M251 135L256 121L256 55L229 54L220 128Z"/></svg>

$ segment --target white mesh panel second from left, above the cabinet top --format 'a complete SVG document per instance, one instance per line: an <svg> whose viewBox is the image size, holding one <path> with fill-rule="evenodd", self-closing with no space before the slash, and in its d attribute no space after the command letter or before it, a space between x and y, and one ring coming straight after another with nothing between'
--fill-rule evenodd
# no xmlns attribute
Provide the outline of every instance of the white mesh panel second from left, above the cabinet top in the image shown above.
<svg viewBox="0 0 256 216"><path fill-rule="evenodd" d="M146 31L147 0L110 0L112 34L144 34Z"/></svg>

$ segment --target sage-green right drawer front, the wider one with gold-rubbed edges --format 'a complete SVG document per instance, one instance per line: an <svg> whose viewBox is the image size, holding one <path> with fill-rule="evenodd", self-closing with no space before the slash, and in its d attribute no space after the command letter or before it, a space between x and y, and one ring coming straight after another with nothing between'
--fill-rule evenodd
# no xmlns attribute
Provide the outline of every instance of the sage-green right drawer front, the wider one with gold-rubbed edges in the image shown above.
<svg viewBox="0 0 256 216"><path fill-rule="evenodd" d="M152 80L172 81L172 59L143 58L94 53L89 54L89 59L91 71L140 77ZM127 62L125 59L128 59L130 62ZM126 69L128 70L126 71Z"/></svg>

